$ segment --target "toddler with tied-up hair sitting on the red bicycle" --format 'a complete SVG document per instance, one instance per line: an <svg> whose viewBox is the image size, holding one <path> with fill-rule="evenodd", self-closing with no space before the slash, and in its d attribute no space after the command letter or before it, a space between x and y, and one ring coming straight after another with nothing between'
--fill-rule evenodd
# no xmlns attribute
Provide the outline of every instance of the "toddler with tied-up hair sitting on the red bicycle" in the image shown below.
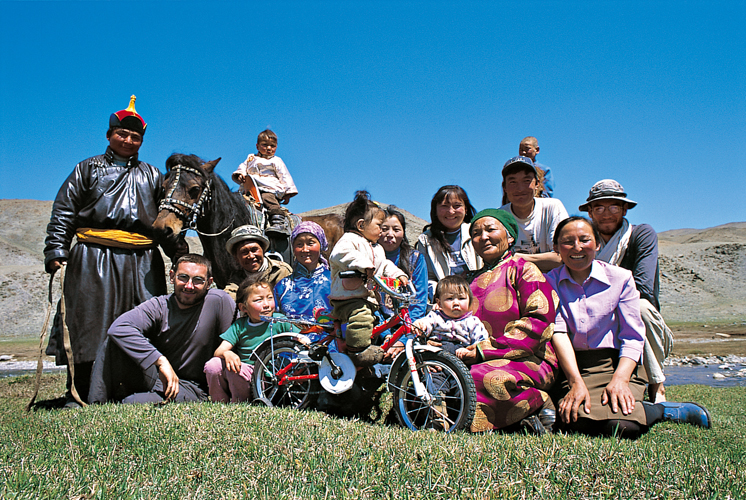
<svg viewBox="0 0 746 500"><path fill-rule="evenodd" d="M357 271L368 278L375 275L399 278L404 284L408 281L404 271L386 259L383 247L378 244L383 220L384 211L371 201L367 191L355 193L355 199L345 212L345 233L329 258L332 317L347 323L347 354L356 366L372 366L383 361L383 349L371 345L370 339L378 300L362 278L342 278L340 273Z"/></svg>

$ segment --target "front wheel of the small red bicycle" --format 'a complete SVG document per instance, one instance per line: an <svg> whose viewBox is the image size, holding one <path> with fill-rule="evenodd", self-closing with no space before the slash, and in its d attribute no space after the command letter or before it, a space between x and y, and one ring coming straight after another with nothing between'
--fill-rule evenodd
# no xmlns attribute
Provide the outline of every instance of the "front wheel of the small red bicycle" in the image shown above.
<svg viewBox="0 0 746 500"><path fill-rule="evenodd" d="M402 359L391 378L394 382L389 385L399 423L415 431L433 429L445 432L471 425L477 391L466 365L445 351L417 352L415 359L417 374L431 398L417 396L409 364Z"/></svg>

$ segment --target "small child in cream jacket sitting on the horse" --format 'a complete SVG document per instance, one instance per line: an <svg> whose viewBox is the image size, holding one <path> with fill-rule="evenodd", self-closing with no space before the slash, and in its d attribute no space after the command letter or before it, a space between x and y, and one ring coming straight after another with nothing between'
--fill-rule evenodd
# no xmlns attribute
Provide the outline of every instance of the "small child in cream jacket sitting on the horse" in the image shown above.
<svg viewBox="0 0 746 500"><path fill-rule="evenodd" d="M261 132L256 139L256 149L256 155L250 154L231 178L241 185L241 192L244 194L250 192L252 184L256 184L267 209L267 232L286 233L285 213L280 203L287 205L290 198L298 194L298 190L285 162L275 156L277 135L274 132L269 129Z"/></svg>

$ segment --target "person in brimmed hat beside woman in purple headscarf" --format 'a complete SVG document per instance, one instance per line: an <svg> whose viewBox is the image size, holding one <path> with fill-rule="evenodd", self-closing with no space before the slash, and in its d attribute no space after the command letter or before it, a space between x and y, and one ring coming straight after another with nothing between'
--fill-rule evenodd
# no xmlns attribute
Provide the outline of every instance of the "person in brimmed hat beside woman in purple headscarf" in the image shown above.
<svg viewBox="0 0 746 500"><path fill-rule="evenodd" d="M293 270L288 264L265 255L268 248L269 240L256 226L240 226L231 232L225 249L241 266L241 270L231 275L225 291L234 300L238 285L249 276L260 275L274 289L278 281L292 274Z"/></svg>

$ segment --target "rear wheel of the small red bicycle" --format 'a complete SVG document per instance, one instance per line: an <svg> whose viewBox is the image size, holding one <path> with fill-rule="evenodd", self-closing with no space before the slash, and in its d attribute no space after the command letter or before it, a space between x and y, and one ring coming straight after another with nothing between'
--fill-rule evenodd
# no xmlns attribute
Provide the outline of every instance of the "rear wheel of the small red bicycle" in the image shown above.
<svg viewBox="0 0 746 500"><path fill-rule="evenodd" d="M274 350L272 349L274 347ZM299 380L279 385L276 373L298 357L299 350L307 347L295 340L278 340L255 354L254 373L251 376L251 393L254 399L265 399L272 406L302 410L313 405L321 386L318 379ZM315 363L296 363L287 376L318 375Z"/></svg>

